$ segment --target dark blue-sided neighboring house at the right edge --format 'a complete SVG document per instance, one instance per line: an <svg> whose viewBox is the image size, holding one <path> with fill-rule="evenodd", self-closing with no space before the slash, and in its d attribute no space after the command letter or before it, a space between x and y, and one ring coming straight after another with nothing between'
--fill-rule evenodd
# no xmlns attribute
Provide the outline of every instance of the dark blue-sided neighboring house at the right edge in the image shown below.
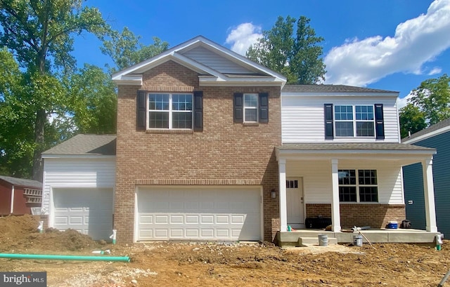
<svg viewBox="0 0 450 287"><path fill-rule="evenodd" d="M437 150L433 157L433 182L437 229L450 235L450 119L425 128L401 140L411 145L432 147ZM426 225L426 205L423 196L423 174L420 164L404 166L404 192L406 218L413 228L424 229Z"/></svg>

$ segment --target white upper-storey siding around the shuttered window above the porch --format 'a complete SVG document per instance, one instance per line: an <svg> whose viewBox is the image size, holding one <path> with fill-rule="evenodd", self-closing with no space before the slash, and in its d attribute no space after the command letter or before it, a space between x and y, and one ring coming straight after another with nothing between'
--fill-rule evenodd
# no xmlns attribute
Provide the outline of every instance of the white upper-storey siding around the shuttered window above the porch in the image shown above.
<svg viewBox="0 0 450 287"><path fill-rule="evenodd" d="M385 139L334 138L325 139L323 105L383 104ZM283 96L281 95L281 130L283 143L295 142L399 142L399 124L395 97L375 96Z"/></svg>

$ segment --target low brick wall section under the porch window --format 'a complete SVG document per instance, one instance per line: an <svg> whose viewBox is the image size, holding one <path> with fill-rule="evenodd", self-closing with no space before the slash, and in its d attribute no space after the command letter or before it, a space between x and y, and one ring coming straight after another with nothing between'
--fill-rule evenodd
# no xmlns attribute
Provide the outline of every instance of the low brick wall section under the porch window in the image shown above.
<svg viewBox="0 0 450 287"><path fill-rule="evenodd" d="M315 218L322 215L331 217L331 204L307 204L307 217ZM342 228L354 226L370 226L372 228L385 228L390 221L406 218L404 204L340 204L340 223Z"/></svg>

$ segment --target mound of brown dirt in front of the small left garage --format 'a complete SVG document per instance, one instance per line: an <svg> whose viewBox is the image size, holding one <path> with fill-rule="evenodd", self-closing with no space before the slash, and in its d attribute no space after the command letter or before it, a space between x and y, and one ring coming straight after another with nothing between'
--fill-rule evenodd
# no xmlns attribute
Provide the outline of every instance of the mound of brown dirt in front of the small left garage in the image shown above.
<svg viewBox="0 0 450 287"><path fill-rule="evenodd" d="M49 228L39 233L39 218L32 215L7 216L0 218L0 252L61 253L97 248L98 243L86 234L74 229L59 231Z"/></svg>

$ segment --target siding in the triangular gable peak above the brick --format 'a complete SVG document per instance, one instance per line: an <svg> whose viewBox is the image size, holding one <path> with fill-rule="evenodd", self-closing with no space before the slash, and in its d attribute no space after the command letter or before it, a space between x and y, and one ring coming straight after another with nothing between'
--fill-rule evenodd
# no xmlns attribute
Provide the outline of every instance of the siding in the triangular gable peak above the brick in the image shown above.
<svg viewBox="0 0 450 287"><path fill-rule="evenodd" d="M214 53L207 48L197 47L183 53L188 58L191 58L201 64L215 69L220 73L230 73L230 74L249 74L253 73L249 69L242 67L236 62L228 60L217 53Z"/></svg>

